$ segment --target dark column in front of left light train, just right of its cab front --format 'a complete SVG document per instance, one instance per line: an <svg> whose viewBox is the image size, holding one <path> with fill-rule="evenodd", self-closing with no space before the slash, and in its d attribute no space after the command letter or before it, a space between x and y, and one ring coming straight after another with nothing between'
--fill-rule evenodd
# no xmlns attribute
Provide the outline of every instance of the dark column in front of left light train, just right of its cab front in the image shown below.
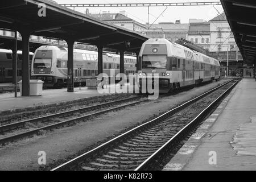
<svg viewBox="0 0 256 182"><path fill-rule="evenodd" d="M68 92L74 92L74 43L75 40L66 40L68 44Z"/></svg>

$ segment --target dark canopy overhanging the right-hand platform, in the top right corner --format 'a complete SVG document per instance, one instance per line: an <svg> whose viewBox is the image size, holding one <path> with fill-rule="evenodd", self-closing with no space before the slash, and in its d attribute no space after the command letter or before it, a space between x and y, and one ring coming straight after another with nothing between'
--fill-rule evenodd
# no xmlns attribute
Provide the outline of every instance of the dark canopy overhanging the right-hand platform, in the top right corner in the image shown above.
<svg viewBox="0 0 256 182"><path fill-rule="evenodd" d="M255 63L256 1L221 0L221 3L243 60L246 63Z"/></svg>

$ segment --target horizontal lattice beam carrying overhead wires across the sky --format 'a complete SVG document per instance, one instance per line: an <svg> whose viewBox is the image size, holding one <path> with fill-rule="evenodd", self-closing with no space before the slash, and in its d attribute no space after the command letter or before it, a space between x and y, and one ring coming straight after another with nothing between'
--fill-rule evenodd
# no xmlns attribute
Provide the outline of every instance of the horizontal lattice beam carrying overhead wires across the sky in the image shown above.
<svg viewBox="0 0 256 182"><path fill-rule="evenodd" d="M216 2L172 2L172 3L99 3L99 4L60 4L65 7L143 7L143 6L209 6L221 5L220 1Z"/></svg>

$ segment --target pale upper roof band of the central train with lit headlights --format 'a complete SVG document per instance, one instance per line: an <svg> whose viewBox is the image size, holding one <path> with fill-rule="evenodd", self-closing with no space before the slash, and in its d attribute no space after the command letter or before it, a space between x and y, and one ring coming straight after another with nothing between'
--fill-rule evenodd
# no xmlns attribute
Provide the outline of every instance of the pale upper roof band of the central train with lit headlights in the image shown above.
<svg viewBox="0 0 256 182"><path fill-rule="evenodd" d="M146 44L166 44L167 50L169 50L168 52L170 53L171 56L180 57L181 59L196 60L201 63L208 63L220 66L218 60L207 55L204 55L203 53L181 46L180 44L170 42L167 39L148 39L146 42L143 43L142 47L144 47Z"/></svg>

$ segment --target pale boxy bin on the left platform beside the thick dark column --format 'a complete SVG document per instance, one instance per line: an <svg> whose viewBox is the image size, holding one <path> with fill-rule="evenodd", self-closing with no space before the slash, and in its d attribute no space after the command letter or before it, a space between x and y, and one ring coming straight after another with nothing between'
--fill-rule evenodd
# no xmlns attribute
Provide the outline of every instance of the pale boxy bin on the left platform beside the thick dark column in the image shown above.
<svg viewBox="0 0 256 182"><path fill-rule="evenodd" d="M30 96L42 96L43 92L42 80L30 80ZM18 82L20 89L20 96L22 96L22 80Z"/></svg>

